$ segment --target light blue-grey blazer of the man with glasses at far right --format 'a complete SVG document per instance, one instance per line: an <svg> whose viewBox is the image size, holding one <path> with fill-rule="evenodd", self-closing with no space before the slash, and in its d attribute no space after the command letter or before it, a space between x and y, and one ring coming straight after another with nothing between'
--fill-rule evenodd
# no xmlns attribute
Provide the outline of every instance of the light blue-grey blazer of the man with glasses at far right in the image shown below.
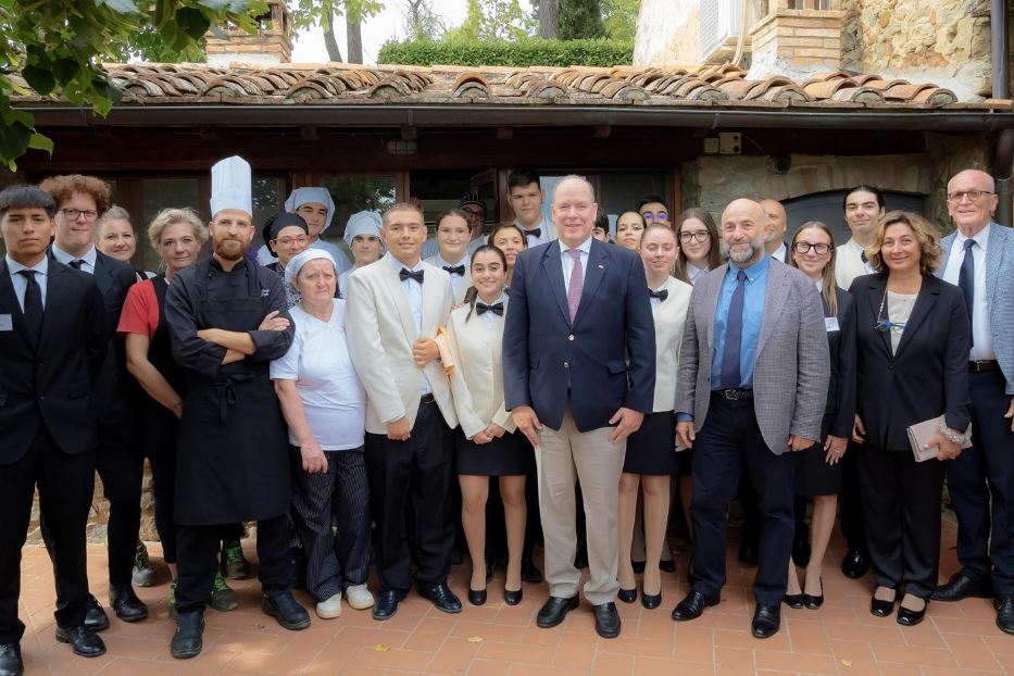
<svg viewBox="0 0 1014 676"><path fill-rule="evenodd" d="M990 223L986 241L986 306L989 308L989 333L1000 371L1006 380L1005 392L1014 395L1014 230ZM937 270L942 277L956 235L944 237L943 260Z"/></svg>

